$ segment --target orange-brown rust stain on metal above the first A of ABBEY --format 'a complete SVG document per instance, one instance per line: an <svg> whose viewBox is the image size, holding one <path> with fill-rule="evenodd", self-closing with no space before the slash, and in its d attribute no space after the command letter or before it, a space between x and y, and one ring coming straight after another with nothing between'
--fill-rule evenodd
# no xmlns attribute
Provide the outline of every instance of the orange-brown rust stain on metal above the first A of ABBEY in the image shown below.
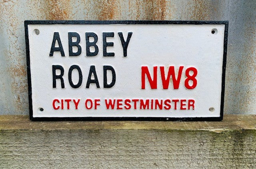
<svg viewBox="0 0 256 169"><path fill-rule="evenodd" d="M46 20L70 19L70 0L46 0L44 12Z"/></svg>

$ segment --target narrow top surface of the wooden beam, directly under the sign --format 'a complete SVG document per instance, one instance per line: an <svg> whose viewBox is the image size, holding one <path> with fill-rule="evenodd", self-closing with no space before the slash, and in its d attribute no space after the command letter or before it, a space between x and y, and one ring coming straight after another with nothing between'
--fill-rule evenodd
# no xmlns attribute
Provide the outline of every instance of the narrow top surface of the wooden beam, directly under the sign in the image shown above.
<svg viewBox="0 0 256 169"><path fill-rule="evenodd" d="M0 129L191 129L224 131L256 129L256 115L224 115L223 121L30 121L27 115L0 115Z"/></svg>

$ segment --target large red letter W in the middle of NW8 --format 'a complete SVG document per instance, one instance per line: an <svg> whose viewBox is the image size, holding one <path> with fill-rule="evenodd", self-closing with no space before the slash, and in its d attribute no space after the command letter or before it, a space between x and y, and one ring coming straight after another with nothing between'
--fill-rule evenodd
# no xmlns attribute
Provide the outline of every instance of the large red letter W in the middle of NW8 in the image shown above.
<svg viewBox="0 0 256 169"><path fill-rule="evenodd" d="M179 86L180 86L180 78L181 78L181 75L182 75L183 68L184 68L184 66L180 66L179 72L178 72L178 78L176 79L175 71L174 71L174 66L170 66L169 67L167 78L165 78L164 66L160 66L160 72L161 72L163 89L168 89L171 76L172 76L173 88L174 89L178 89L179 88Z"/></svg>

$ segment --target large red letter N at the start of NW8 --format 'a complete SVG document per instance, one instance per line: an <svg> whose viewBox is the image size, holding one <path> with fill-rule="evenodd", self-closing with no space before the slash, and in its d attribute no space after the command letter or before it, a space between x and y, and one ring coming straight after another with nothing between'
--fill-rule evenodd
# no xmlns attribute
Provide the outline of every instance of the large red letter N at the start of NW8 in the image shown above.
<svg viewBox="0 0 256 169"><path fill-rule="evenodd" d="M154 66L153 80L148 71L148 66L141 67L141 88L145 89L145 75L148 78L151 89L157 89L157 66Z"/></svg>

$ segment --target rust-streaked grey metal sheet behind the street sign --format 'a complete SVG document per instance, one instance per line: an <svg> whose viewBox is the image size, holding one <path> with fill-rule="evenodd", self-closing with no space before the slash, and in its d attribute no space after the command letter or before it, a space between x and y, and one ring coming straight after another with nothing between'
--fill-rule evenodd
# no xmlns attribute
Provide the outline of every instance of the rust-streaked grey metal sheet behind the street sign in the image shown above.
<svg viewBox="0 0 256 169"><path fill-rule="evenodd" d="M256 114L256 0L1 0L0 114L28 115L24 20L229 20L224 113Z"/></svg>

